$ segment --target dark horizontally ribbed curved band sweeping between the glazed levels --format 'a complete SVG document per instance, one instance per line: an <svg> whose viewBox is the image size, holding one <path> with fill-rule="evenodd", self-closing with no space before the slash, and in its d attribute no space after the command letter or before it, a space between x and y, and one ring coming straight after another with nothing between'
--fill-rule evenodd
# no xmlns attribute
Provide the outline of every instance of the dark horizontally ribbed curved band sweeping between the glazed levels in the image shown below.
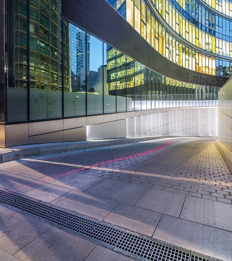
<svg viewBox="0 0 232 261"><path fill-rule="evenodd" d="M157 52L105 0L64 0L64 18L166 77L193 84L221 87L228 78L198 73ZM104 12L102 12L104 10ZM133 39L133 40L132 40Z"/></svg>

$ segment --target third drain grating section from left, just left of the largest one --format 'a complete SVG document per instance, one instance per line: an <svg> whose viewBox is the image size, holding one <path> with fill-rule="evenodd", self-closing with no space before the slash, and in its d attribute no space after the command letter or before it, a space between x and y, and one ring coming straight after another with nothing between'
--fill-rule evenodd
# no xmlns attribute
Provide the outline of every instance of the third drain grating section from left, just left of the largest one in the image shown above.
<svg viewBox="0 0 232 261"><path fill-rule="evenodd" d="M125 229L121 229L117 226L110 226L106 223L81 216L74 217L72 220L68 221L63 228L90 237L94 239L94 241L101 242L111 249L114 248L115 244L125 231Z"/></svg>

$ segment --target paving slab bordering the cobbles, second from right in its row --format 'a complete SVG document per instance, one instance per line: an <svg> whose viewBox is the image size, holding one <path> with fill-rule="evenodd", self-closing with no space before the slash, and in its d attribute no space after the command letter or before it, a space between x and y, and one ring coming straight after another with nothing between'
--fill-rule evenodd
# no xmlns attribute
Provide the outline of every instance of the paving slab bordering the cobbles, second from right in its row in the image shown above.
<svg viewBox="0 0 232 261"><path fill-rule="evenodd" d="M182 194L149 188L135 206L179 217L184 198Z"/></svg>

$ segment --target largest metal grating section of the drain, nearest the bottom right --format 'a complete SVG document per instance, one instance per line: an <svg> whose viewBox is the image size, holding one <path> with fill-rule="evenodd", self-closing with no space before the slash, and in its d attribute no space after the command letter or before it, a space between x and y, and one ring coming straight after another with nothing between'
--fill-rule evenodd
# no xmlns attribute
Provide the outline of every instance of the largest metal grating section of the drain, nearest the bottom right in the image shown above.
<svg viewBox="0 0 232 261"><path fill-rule="evenodd" d="M190 251L125 231L114 250L139 260L189 261ZM142 258L142 259L141 259Z"/></svg>

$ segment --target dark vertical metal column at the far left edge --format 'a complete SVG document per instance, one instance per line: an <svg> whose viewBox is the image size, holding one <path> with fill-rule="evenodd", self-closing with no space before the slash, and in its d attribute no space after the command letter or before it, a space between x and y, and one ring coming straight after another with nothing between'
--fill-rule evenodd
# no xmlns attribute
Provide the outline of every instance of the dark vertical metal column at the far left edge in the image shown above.
<svg viewBox="0 0 232 261"><path fill-rule="evenodd" d="M5 121L5 0L0 0L0 122Z"/></svg>

